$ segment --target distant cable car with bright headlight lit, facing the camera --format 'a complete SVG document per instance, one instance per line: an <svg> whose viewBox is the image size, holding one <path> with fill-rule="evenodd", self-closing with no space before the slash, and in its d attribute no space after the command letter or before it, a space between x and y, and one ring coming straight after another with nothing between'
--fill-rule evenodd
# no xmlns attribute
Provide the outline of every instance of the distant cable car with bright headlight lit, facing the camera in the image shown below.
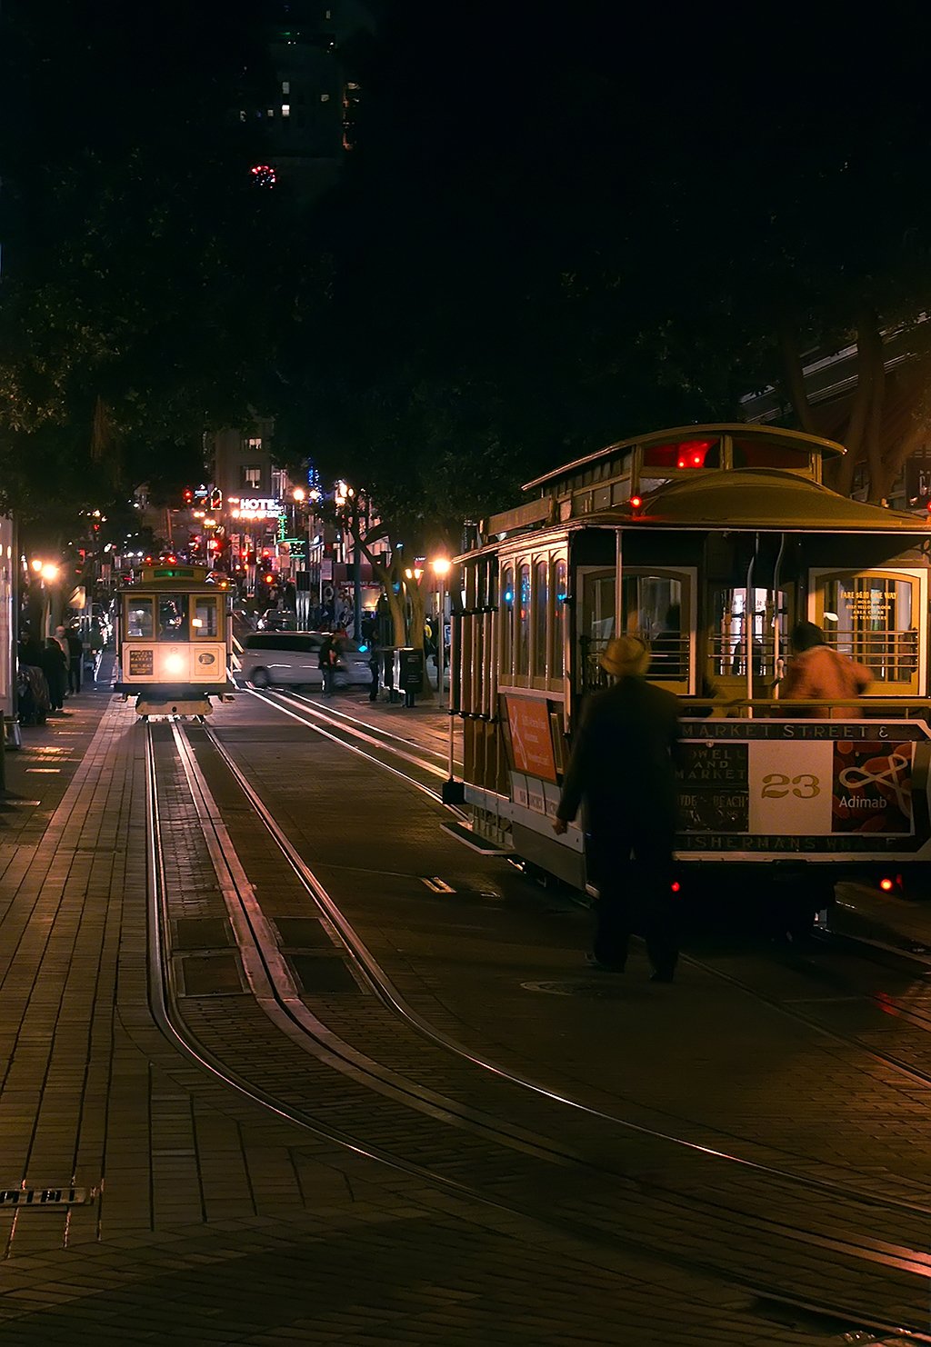
<svg viewBox="0 0 931 1347"><path fill-rule="evenodd" d="M199 715L233 692L229 594L201 566L146 566L120 591L113 688L150 715Z"/></svg>

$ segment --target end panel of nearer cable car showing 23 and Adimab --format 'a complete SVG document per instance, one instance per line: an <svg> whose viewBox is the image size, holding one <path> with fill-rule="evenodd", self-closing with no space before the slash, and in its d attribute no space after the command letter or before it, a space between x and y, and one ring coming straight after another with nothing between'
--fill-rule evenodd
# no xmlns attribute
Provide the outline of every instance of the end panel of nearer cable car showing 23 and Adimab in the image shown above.
<svg viewBox="0 0 931 1347"><path fill-rule="evenodd" d="M913 853L930 760L920 721L684 722L679 849Z"/></svg>

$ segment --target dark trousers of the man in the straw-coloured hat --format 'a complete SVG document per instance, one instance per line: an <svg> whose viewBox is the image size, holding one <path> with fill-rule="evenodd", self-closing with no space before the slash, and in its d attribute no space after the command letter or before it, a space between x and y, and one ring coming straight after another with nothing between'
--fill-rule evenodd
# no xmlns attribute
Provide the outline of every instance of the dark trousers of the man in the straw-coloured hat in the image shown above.
<svg viewBox="0 0 931 1347"><path fill-rule="evenodd" d="M678 912L672 893L671 830L625 832L598 846L593 954L600 963L618 967L627 959L631 932L640 929L656 973L671 977L679 959Z"/></svg>

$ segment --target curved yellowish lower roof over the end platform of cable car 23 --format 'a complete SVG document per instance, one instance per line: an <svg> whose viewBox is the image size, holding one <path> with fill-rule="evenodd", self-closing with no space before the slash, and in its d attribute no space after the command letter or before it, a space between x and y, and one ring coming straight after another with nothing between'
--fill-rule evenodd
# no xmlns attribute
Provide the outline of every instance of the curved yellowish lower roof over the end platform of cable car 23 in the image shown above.
<svg viewBox="0 0 931 1347"><path fill-rule="evenodd" d="M609 513L618 517L617 511ZM594 517L590 515L589 520ZM597 517L605 516L598 513ZM709 471L667 482L622 517L682 528L920 533L926 537L931 533L928 517L852 501L806 477L765 467Z"/></svg>

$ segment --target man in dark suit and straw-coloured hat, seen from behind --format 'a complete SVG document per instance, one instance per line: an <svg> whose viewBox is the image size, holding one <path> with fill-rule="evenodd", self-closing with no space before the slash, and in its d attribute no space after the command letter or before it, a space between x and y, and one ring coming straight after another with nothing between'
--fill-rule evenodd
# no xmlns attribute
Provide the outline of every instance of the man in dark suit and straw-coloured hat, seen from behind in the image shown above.
<svg viewBox="0 0 931 1347"><path fill-rule="evenodd" d="M624 970L643 904L653 982L672 982L679 956L672 894L679 703L644 678L649 648L636 636L608 643L601 667L617 682L589 702L556 808L565 832L585 800L589 880L598 890L590 960Z"/></svg>

